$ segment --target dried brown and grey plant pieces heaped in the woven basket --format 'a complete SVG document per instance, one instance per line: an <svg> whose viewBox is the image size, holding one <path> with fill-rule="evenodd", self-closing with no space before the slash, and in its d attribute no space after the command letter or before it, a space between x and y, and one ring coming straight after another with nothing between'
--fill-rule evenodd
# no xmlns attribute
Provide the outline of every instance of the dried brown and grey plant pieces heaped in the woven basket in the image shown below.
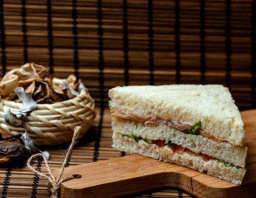
<svg viewBox="0 0 256 198"><path fill-rule="evenodd" d="M79 95L81 89L87 89L81 79L77 79L73 74L67 79L58 79L54 76L43 78L41 74L45 70L42 65L26 63L3 76L0 82L0 97L23 103L18 111L6 110L7 123L22 126L26 121L26 115L35 110L37 104L52 104L73 99Z"/></svg>

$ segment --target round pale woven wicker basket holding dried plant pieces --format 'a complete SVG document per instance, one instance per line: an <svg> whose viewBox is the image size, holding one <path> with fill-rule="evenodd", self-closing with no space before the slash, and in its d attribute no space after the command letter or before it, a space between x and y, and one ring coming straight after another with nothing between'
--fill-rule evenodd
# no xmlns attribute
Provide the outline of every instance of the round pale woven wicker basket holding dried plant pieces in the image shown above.
<svg viewBox="0 0 256 198"><path fill-rule="evenodd" d="M26 116L23 127L14 127L5 122L4 112L7 109L18 110L22 103L0 101L0 133L17 135L27 131L35 145L56 145L70 142L73 128L84 124L80 133L83 135L93 124L96 116L94 100L87 90L79 96L54 104L38 104L36 110Z"/></svg>

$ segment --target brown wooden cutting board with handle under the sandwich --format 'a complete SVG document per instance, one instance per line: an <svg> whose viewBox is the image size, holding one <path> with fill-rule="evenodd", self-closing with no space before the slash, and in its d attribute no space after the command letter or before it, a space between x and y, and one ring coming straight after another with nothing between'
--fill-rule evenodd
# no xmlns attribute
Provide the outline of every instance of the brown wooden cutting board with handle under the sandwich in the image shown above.
<svg viewBox="0 0 256 198"><path fill-rule="evenodd" d="M241 116L248 146L241 186L136 154L65 168L63 177L77 175L77 179L61 184L60 198L115 198L173 187L198 198L256 197L256 110L243 111ZM53 174L57 177L58 173Z"/></svg>

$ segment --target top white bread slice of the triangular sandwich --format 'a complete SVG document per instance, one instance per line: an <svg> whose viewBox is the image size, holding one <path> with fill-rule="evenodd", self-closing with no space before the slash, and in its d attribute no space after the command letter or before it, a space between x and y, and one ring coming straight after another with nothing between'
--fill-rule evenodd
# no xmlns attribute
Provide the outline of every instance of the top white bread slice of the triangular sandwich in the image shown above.
<svg viewBox="0 0 256 198"><path fill-rule="evenodd" d="M191 125L231 144L244 144L244 126L228 88L222 85L116 87L109 91L111 112L163 118Z"/></svg>

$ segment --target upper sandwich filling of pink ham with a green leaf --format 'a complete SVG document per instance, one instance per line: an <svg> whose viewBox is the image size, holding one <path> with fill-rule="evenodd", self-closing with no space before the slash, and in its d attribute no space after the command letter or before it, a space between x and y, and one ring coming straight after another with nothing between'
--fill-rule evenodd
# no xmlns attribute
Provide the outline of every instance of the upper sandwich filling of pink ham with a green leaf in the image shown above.
<svg viewBox="0 0 256 198"><path fill-rule="evenodd" d="M115 118L129 119L129 120L138 121L138 122L144 122L144 124L148 124L148 123L165 124L169 127L172 127L174 129L179 130L186 134L206 136L207 138L212 139L212 140L216 141L217 143L225 141L224 139L212 136L209 133L207 133L206 131L202 130L200 121L194 125L191 125L188 123L181 123L181 122L175 122L172 120L166 120L163 118L154 118L154 117L148 118L148 117L144 117L144 116L123 115L121 113L111 113L111 117L112 118L115 117ZM228 143L231 144L232 146L236 146L235 144L232 144L230 142L228 142Z"/></svg>

